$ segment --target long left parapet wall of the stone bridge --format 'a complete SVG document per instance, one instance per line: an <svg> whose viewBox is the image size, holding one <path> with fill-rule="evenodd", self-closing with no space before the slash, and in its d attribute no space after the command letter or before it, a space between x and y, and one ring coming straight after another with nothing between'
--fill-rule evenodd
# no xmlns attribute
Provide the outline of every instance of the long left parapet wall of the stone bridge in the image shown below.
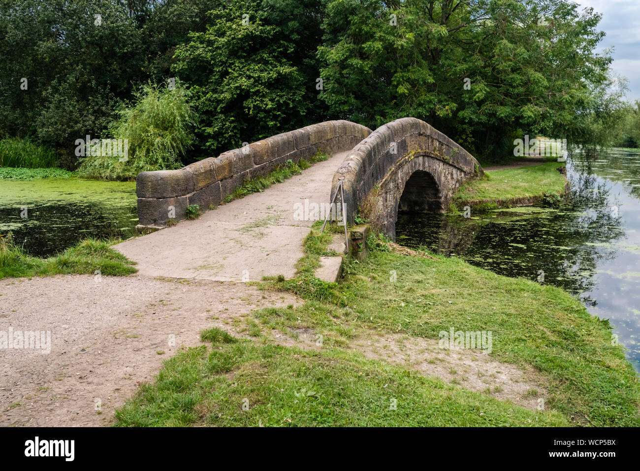
<svg viewBox="0 0 640 471"><path fill-rule="evenodd" d="M348 151L371 129L346 120L325 121L268 137L197 161L179 170L141 172L136 178L141 226L165 226L169 219L186 219L186 208L217 206L246 181L263 177L287 160L298 163L318 152Z"/></svg>

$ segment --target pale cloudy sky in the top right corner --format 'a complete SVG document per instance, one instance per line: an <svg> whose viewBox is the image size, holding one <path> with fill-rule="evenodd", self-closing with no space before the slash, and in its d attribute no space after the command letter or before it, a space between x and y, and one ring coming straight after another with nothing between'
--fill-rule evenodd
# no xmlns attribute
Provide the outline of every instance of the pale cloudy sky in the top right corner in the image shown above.
<svg viewBox="0 0 640 471"><path fill-rule="evenodd" d="M640 0L575 0L602 13L598 28L607 35L599 50L615 46L612 69L629 79L627 98L640 99Z"/></svg>

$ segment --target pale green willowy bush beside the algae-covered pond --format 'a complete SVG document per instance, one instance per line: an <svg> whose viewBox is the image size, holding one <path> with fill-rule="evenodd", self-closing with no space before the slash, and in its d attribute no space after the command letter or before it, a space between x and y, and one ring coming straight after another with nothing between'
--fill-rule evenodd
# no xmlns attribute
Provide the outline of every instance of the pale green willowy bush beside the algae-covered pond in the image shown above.
<svg viewBox="0 0 640 471"><path fill-rule="evenodd" d="M112 156L88 156L78 173L87 178L134 179L140 172L182 167L182 156L194 142L195 112L188 103L189 92L176 83L169 89L144 85L135 103L124 106L109 126L116 139L127 139L127 161Z"/></svg>

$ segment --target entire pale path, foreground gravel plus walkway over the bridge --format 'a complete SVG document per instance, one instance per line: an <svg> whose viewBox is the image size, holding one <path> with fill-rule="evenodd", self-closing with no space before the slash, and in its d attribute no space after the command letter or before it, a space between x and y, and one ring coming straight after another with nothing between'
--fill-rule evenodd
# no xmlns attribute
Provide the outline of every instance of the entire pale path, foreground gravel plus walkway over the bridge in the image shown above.
<svg viewBox="0 0 640 471"><path fill-rule="evenodd" d="M201 343L201 329L233 331L231 320L254 308L298 304L291 295L229 282L294 275L314 222L294 219L294 204L328 202L345 156L116 245L138 262L134 276L0 281L0 340L11 329L43 332L43 340L49 333L51 342L47 353L42 345L0 349L0 425L108 425L163 359Z"/></svg>

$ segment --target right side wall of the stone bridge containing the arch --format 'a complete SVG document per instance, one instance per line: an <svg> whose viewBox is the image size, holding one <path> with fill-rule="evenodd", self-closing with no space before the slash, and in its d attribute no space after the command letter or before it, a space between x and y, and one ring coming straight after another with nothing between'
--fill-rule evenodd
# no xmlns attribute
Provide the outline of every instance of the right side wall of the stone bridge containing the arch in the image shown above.
<svg viewBox="0 0 640 471"><path fill-rule="evenodd" d="M477 160L426 122L392 121L353 147L333 176L344 188L348 222L356 211L396 238L398 210L444 213L461 183L479 178Z"/></svg>

